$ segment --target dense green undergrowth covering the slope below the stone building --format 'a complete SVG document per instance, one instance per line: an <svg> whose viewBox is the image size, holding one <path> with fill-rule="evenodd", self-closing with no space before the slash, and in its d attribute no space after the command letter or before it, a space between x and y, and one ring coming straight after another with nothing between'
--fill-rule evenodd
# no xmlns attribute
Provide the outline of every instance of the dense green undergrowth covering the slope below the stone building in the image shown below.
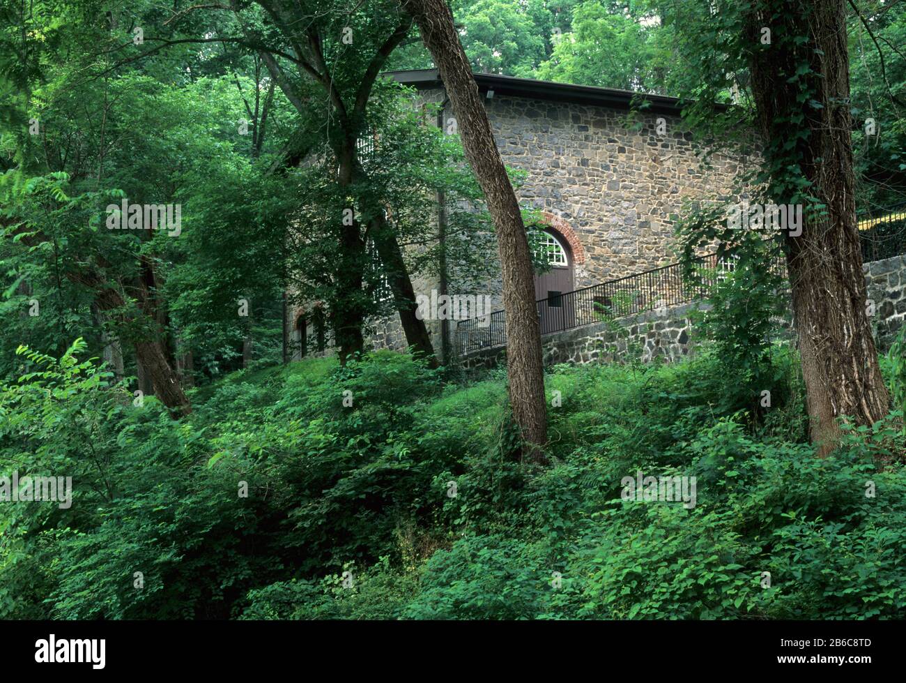
<svg viewBox="0 0 906 683"><path fill-rule="evenodd" d="M674 365L557 366L540 470L514 457L499 378L445 385L390 352L312 359L227 376L177 426L83 353L23 349L34 370L2 387L3 471L74 480L68 510L0 509L7 618L906 613L899 414L815 458L782 347L760 421L728 401L742 373L713 347ZM622 500L639 471L695 477L696 504Z"/></svg>

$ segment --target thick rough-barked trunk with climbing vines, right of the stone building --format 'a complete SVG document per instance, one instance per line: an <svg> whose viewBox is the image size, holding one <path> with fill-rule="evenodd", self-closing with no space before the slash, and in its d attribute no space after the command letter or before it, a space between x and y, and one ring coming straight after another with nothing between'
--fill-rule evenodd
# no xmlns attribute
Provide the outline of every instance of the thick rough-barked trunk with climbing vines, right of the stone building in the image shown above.
<svg viewBox="0 0 906 683"><path fill-rule="evenodd" d="M889 407L867 312L855 218L844 0L812 0L810 5L762 0L754 8L747 25L752 44L762 26L773 25L773 34L780 36L751 60L767 161L775 168L797 166L811 183L809 193L826 206L824 216L806 210L802 234L786 236L810 434L823 456L840 437L837 418L872 424ZM786 24L783 32L776 30L778 22ZM807 35L808 43L796 44L796 35ZM789 83L803 64L813 75ZM811 92L805 103L797 103L804 88ZM797 128L799 117L804 122ZM805 135L795 137L799 132ZM798 140L792 152L778 142L788 140ZM775 200L786 203L789 198Z"/></svg>

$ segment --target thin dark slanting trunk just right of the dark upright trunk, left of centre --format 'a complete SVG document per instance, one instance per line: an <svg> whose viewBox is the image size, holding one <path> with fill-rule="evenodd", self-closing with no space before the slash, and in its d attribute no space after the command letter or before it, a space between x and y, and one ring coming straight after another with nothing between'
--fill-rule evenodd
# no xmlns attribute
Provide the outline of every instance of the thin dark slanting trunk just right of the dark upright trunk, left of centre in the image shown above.
<svg viewBox="0 0 906 683"><path fill-rule="evenodd" d="M438 359L434 356L434 346L431 346L431 337L425 321L415 315L418 306L415 302L415 289L409 277L409 269L403 259L400 244L393 236L390 226L380 215L372 220L371 239L378 249L381 257L381 266L393 292L393 303L397 313L400 314L403 332L406 334L406 343L417 354L428 360L429 366L437 367Z"/></svg>

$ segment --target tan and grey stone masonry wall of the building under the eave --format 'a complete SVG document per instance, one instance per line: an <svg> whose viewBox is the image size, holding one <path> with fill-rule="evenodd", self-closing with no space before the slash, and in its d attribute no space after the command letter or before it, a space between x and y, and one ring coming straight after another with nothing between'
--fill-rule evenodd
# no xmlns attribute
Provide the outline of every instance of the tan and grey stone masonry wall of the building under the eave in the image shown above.
<svg viewBox="0 0 906 683"><path fill-rule="evenodd" d="M444 95L424 90L419 97L440 103ZM716 151L704 163L697 156L702 145L678 116L642 113L630 121L622 110L571 102L508 96L484 102L503 161L525 171L516 190L520 203L541 210L571 244L575 288L674 262L674 222L684 202L739 200L734 181L754 159ZM452 116L447 107L445 127ZM496 253L487 258L496 261ZM437 287L427 280L419 285L417 294ZM499 278L458 293L490 296L502 308ZM376 347L405 346L394 331L396 316L378 327Z"/></svg>

